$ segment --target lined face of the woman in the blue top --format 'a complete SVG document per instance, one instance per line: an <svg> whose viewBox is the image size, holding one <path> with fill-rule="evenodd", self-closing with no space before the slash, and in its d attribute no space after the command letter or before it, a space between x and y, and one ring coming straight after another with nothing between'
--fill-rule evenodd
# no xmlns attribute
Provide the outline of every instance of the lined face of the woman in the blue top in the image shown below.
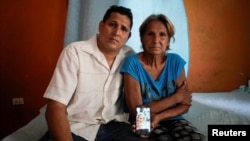
<svg viewBox="0 0 250 141"><path fill-rule="evenodd" d="M162 54L169 45L169 37L167 29L160 21L153 20L147 27L142 36L142 44L144 51L152 55Z"/></svg>

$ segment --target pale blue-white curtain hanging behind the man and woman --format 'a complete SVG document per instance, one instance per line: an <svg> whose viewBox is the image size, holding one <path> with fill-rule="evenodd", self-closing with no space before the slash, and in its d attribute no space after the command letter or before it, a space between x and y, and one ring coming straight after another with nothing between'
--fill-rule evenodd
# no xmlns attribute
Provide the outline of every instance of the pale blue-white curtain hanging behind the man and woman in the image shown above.
<svg viewBox="0 0 250 141"><path fill-rule="evenodd" d="M128 7L133 13L132 36L127 44L136 52L141 51L139 26L150 14L162 13L173 22L176 33L170 52L181 55L189 68L188 22L182 0L69 0L64 45L88 39L98 32L99 21L113 4Z"/></svg>

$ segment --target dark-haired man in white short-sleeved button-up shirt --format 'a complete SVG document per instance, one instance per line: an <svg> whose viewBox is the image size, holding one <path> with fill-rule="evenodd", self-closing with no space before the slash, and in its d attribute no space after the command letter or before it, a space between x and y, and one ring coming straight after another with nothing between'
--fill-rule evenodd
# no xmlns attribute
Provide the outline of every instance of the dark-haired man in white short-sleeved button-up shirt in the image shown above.
<svg viewBox="0 0 250 141"><path fill-rule="evenodd" d="M96 36L64 48L44 94L53 141L135 138L122 108L119 73L124 57L133 53L125 45L132 24L130 9L111 6L99 23Z"/></svg>

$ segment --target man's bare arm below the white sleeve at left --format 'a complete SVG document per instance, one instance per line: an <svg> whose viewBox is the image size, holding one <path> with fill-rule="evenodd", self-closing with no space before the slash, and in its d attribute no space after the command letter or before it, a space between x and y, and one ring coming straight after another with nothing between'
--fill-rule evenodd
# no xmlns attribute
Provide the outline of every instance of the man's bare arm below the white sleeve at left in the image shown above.
<svg viewBox="0 0 250 141"><path fill-rule="evenodd" d="M48 99L45 116L53 141L73 141L64 104Z"/></svg>

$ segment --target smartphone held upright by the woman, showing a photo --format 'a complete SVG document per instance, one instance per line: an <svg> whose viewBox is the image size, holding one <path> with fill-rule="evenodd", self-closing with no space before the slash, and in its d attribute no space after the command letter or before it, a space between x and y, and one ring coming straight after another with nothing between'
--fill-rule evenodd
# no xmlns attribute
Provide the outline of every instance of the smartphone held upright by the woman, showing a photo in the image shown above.
<svg viewBox="0 0 250 141"><path fill-rule="evenodd" d="M147 135L150 133L150 107L140 105L136 107L136 133Z"/></svg>

